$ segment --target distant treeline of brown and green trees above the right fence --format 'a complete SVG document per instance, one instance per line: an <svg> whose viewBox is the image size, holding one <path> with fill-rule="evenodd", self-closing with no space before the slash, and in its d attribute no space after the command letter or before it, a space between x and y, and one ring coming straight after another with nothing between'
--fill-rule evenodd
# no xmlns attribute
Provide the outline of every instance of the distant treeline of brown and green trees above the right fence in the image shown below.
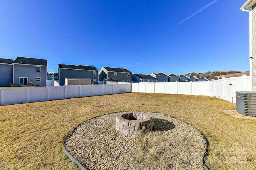
<svg viewBox="0 0 256 170"><path fill-rule="evenodd" d="M185 74L186 76L197 76L197 77L202 77L202 78L208 78L208 79L216 79L214 76L221 76L225 74L235 74L235 73L240 73L240 71L208 71L208 72L192 72L192 73L187 73Z"/></svg>

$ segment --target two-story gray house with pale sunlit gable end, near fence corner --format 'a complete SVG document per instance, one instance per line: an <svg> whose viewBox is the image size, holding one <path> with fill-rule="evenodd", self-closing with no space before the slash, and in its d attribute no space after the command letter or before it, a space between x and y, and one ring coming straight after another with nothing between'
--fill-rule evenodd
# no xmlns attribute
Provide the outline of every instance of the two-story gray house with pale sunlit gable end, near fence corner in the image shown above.
<svg viewBox="0 0 256 170"><path fill-rule="evenodd" d="M132 72L126 68L102 67L99 72L99 81L108 78L117 82L132 82Z"/></svg>

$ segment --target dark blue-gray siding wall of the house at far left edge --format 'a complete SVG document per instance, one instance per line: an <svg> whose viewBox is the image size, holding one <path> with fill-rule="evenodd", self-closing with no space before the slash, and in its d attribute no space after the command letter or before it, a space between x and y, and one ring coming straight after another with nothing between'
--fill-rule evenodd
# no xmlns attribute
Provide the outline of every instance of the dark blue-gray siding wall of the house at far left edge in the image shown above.
<svg viewBox="0 0 256 170"><path fill-rule="evenodd" d="M12 84L12 65L0 64L0 86Z"/></svg>

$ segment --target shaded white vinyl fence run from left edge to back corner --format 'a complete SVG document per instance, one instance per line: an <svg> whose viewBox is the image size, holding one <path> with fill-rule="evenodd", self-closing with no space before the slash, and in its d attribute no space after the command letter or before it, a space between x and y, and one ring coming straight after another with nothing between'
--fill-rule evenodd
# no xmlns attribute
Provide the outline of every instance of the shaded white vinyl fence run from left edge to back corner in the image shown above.
<svg viewBox="0 0 256 170"><path fill-rule="evenodd" d="M0 88L0 106L48 100L129 93L132 84Z"/></svg>

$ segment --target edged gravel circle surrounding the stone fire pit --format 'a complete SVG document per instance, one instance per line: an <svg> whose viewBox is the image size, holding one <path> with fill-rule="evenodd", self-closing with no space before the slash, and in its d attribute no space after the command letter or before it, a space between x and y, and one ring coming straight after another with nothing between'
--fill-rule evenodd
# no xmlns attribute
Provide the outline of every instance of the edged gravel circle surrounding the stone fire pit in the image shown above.
<svg viewBox="0 0 256 170"><path fill-rule="evenodd" d="M203 161L206 139L192 125L150 113L155 131L125 137L115 129L117 114L84 121L64 140L65 149L86 169L208 169Z"/></svg>

